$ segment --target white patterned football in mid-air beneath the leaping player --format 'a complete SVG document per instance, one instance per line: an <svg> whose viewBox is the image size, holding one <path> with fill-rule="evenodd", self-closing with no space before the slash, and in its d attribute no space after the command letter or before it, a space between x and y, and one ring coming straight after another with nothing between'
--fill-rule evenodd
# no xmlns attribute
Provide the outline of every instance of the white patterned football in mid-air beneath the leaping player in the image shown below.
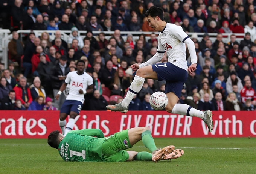
<svg viewBox="0 0 256 174"><path fill-rule="evenodd" d="M168 104L168 98L165 93L157 91L150 96L149 103L154 110L162 110Z"/></svg>

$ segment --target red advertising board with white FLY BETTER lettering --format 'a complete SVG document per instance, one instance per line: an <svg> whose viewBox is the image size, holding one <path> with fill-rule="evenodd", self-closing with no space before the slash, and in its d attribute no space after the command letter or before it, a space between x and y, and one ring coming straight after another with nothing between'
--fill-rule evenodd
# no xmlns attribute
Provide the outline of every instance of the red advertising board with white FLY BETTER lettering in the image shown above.
<svg viewBox="0 0 256 174"><path fill-rule="evenodd" d="M199 118L165 111L129 111L127 114L107 111L81 111L74 130L98 128L109 136L139 126L149 126L156 138L256 137L256 117L252 111L215 111L215 127L209 132ZM60 130L59 111L1 111L1 138L47 138ZM67 118L68 119L68 118Z"/></svg>

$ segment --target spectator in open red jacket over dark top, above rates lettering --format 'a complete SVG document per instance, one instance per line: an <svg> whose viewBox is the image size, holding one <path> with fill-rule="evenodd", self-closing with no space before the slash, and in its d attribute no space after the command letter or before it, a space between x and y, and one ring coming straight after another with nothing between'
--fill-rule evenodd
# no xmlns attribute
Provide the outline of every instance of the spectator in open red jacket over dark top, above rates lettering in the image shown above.
<svg viewBox="0 0 256 174"><path fill-rule="evenodd" d="M27 78L21 77L20 83L13 89L16 93L16 100L20 100L21 103L28 108L29 105L32 103L33 99L31 96L31 92L29 86L27 85Z"/></svg>

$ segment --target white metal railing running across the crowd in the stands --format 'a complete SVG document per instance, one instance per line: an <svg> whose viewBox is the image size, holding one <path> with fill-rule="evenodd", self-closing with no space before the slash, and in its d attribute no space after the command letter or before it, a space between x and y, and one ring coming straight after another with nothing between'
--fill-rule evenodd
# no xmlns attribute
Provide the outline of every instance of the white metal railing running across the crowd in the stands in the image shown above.
<svg viewBox="0 0 256 174"><path fill-rule="evenodd" d="M21 41L23 39L22 36L24 36L25 34L30 33L30 30L18 30L17 31L20 36L21 36ZM41 36L41 34L43 32L47 32L50 34L50 39L54 40L55 39L55 30L34 30L33 31L35 33L36 37ZM109 39L112 34L114 34L114 31L93 31L94 37L97 37L96 34L102 33L104 32L106 34L106 39ZM71 31L61 31L62 34L62 39L63 40L67 40L69 37L69 34L71 33ZM87 31L78 31L78 35L82 37L82 39L84 39L85 34L87 33ZM139 39L139 35L140 34L145 34L146 35L146 40L150 39L149 34L152 34L152 32L136 32L136 31L121 31L123 40L126 40L126 34L133 34L133 41L136 42L137 39ZM154 32L155 34L159 34L159 32ZM197 39L199 42L201 42L201 40L203 39L203 35L205 33L187 33L190 37L192 36L192 34L196 34L197 35ZM212 42L215 42L216 40L216 35L217 33L208 33L210 36L210 40L212 40ZM224 43L228 43L230 41L230 35L232 33L223 33L223 42ZM238 41L240 43L241 40L243 40L243 36L245 34L241 34L241 33L236 33L236 36L240 36L241 38L237 38L236 41ZM2 57L2 62L5 63L5 68L7 68L8 66L8 43L10 42L10 40L12 39L12 34L10 30L0 30L0 58Z"/></svg>

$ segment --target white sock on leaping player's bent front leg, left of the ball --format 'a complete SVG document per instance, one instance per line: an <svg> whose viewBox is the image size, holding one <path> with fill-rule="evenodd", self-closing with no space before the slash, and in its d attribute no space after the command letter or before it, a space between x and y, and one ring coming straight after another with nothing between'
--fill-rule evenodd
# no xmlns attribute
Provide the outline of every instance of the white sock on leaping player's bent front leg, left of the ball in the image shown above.
<svg viewBox="0 0 256 174"><path fill-rule="evenodd" d="M134 98L134 96L138 92L140 92L140 90L142 89L142 86L144 84L144 81L145 81L145 78L139 77L137 75L134 77L134 80L131 83L131 86L127 92L127 95L121 102L123 107L127 107L130 104L131 100Z"/></svg>

